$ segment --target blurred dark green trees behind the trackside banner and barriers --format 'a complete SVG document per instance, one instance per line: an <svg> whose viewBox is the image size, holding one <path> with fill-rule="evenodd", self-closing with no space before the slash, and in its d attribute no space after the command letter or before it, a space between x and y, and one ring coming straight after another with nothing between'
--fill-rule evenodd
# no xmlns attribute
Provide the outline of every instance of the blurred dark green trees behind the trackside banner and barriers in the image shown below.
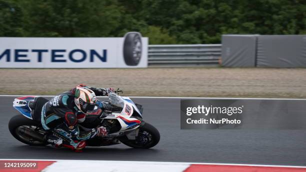
<svg viewBox="0 0 306 172"><path fill-rule="evenodd" d="M222 34L306 34L306 0L0 0L0 36L220 43Z"/></svg>

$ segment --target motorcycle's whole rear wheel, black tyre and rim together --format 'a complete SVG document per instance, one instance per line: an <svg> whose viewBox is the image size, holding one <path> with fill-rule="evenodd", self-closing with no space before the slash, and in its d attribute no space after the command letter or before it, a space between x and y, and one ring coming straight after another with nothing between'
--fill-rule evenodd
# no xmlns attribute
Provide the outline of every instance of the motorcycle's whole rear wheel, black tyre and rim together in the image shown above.
<svg viewBox="0 0 306 172"><path fill-rule="evenodd" d="M28 145L42 146L47 143L44 141L44 130L37 128L39 124L36 120L16 115L9 120L8 129L17 140Z"/></svg>

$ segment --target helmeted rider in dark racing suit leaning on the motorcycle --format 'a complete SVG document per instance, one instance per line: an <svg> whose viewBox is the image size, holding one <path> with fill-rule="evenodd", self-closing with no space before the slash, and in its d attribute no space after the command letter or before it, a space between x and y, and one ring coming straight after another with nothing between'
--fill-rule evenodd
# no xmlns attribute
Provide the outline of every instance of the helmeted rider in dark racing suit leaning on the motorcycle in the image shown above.
<svg viewBox="0 0 306 172"><path fill-rule="evenodd" d="M105 96L108 92L113 92L113 88L79 84L46 102L42 107L41 124L46 130L52 129L52 133L46 136L46 141L55 147L64 146L81 151L86 146L85 140L107 135L107 129L103 126L79 131L77 119L90 113L95 104L100 104L101 112L107 110L107 104L97 103L96 95Z"/></svg>

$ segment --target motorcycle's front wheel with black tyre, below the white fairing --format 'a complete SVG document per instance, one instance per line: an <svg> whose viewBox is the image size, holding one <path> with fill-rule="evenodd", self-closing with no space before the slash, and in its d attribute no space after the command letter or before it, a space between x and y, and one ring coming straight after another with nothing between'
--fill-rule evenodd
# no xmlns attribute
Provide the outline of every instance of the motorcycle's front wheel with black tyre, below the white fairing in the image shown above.
<svg viewBox="0 0 306 172"><path fill-rule="evenodd" d="M158 130L149 123L139 126L139 132L136 139L130 140L125 135L120 137L119 140L133 148L150 148L159 142L160 135Z"/></svg>

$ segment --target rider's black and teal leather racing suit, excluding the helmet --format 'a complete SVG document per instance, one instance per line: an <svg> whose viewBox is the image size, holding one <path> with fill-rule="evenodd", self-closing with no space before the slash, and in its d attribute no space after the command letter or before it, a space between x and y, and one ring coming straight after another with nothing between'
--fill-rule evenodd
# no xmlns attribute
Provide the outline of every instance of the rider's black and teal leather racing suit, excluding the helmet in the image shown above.
<svg viewBox="0 0 306 172"><path fill-rule="evenodd" d="M107 89L78 85L76 87L86 87L92 90L96 96L107 95ZM41 111L41 124L46 130L52 133L46 136L46 141L55 147L65 146L75 151L85 147L85 140L96 135L106 135L107 130L103 126L92 128L89 131L80 131L77 125L78 116L85 116L74 103L74 93L76 88L62 92L46 102ZM99 104L101 112L106 105Z"/></svg>

